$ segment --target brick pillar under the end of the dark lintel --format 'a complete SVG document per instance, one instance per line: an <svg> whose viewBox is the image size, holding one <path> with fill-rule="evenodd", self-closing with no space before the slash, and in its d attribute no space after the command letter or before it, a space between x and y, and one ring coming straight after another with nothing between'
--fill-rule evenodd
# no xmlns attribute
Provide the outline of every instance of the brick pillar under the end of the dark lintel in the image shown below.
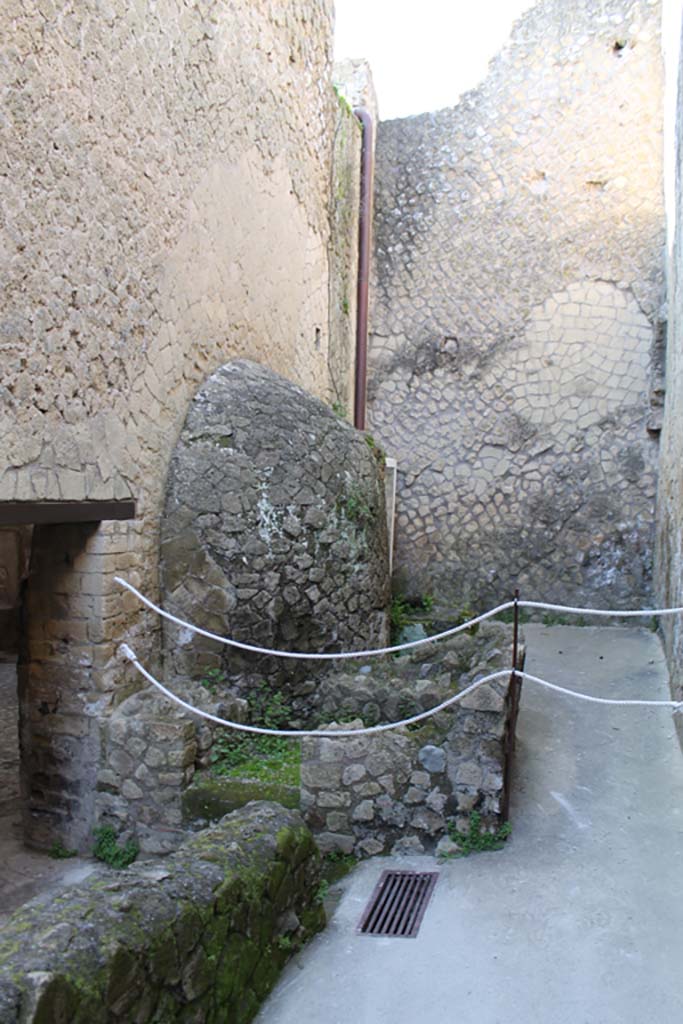
<svg viewBox="0 0 683 1024"><path fill-rule="evenodd" d="M18 664L25 841L91 843L104 641L97 523L36 526Z"/></svg>

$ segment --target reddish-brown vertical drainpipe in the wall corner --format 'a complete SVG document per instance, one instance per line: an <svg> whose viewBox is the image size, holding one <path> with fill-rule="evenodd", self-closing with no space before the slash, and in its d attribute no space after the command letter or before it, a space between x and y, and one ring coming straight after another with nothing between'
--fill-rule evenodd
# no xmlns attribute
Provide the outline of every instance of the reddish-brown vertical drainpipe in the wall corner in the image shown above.
<svg viewBox="0 0 683 1024"><path fill-rule="evenodd" d="M360 213L358 217L358 289L355 318L355 400L353 425L366 429L366 392L368 386L368 295L373 227L373 119L365 106L354 115L362 125L360 145Z"/></svg>

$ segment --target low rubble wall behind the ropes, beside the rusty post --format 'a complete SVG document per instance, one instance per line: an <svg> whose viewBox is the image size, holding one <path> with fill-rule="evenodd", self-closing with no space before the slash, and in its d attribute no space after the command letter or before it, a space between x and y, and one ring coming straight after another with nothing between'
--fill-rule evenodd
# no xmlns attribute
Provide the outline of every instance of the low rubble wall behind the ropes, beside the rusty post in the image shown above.
<svg viewBox="0 0 683 1024"><path fill-rule="evenodd" d="M484 623L474 636L331 675L318 687L319 714L343 718L344 728L408 718L511 667L510 641L509 626ZM450 817L466 831L474 810L484 827L501 824L508 691L506 677L416 726L304 739L301 809L321 849L422 853L444 836Z"/></svg>

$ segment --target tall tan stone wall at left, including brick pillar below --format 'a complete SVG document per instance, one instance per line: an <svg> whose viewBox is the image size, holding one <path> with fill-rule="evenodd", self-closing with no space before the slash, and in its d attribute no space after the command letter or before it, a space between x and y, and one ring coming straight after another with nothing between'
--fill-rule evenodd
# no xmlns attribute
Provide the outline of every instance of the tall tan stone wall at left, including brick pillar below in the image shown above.
<svg viewBox="0 0 683 1024"><path fill-rule="evenodd" d="M354 128L331 86L328 0L1 16L0 503L132 497L137 511L44 527L29 581L25 750L59 765L27 769L28 814L45 809L27 838L82 847L111 796L92 791L116 745L108 716L139 685L118 645L160 667L156 616L114 575L159 594L165 478L197 388L236 356L328 400L350 386L330 267L354 265Z"/></svg>

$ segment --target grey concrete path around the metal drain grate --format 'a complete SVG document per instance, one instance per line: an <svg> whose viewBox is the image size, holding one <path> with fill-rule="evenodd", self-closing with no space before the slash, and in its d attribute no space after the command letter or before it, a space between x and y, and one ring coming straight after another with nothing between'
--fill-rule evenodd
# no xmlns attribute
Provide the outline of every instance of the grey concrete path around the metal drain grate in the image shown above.
<svg viewBox="0 0 683 1024"><path fill-rule="evenodd" d="M602 696L669 696L646 630L525 633L531 673ZM362 863L259 1024L681 1024L683 758L671 712L525 684L512 820L501 852ZM440 871L420 935L356 935L378 876L397 865Z"/></svg>

